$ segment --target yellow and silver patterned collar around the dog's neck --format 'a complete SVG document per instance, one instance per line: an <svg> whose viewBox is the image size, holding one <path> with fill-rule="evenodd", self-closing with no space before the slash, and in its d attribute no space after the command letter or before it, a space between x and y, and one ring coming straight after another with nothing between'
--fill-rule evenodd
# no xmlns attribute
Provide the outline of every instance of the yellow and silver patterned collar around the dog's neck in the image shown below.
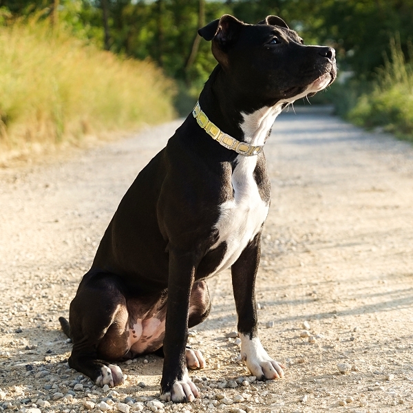
<svg viewBox="0 0 413 413"><path fill-rule="evenodd" d="M195 107L192 111L193 117L198 122L198 125L207 131L213 139L219 142L223 147L227 149L232 149L233 151L240 153L240 155L244 156L253 156L258 155L262 151L262 146L253 146L246 142L240 142L240 140L236 140L232 136L224 134L223 131L217 126L214 125L211 120L208 119L208 116L202 112L200 107L200 103L197 102Z"/></svg>

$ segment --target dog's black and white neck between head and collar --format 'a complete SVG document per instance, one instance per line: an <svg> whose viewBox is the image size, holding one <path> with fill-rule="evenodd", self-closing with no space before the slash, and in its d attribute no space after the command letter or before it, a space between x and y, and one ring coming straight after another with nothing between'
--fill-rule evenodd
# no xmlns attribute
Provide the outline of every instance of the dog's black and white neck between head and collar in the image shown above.
<svg viewBox="0 0 413 413"><path fill-rule="evenodd" d="M264 145L284 102L266 106L239 89L218 65L200 94L200 106L224 133L251 145Z"/></svg>

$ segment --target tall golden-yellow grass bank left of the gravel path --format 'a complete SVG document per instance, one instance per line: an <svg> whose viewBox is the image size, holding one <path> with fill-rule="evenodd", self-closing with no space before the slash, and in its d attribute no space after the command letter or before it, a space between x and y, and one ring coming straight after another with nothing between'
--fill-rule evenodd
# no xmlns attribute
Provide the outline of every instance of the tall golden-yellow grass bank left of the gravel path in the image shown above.
<svg viewBox="0 0 413 413"><path fill-rule="evenodd" d="M122 59L46 23L0 27L0 151L173 118L174 85L149 61Z"/></svg>

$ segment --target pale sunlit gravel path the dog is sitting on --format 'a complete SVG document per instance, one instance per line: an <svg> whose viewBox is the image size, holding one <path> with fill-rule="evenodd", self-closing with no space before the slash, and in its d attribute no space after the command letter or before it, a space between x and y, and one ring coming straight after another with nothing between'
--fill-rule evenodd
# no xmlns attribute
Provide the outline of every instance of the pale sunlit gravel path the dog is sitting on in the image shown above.
<svg viewBox="0 0 413 413"><path fill-rule="evenodd" d="M161 359L123 363L127 382L105 399L108 392L67 367L71 345L57 319L67 316L123 193L178 125L67 162L0 171L0 410L69 413L102 400L114 411L118 401L155 409L142 403L158 393ZM222 273L209 282L211 315L190 339L209 357L207 369L194 373L209 379L205 397L164 409L413 408L413 147L304 112L276 120L266 157L273 202L257 281L260 335L288 366L286 378L228 388L248 373L225 337L235 329L235 310L229 274ZM310 338L300 337L303 330ZM341 374L337 364L350 371ZM74 391L77 383L83 390ZM237 394L246 400L218 400Z"/></svg>

